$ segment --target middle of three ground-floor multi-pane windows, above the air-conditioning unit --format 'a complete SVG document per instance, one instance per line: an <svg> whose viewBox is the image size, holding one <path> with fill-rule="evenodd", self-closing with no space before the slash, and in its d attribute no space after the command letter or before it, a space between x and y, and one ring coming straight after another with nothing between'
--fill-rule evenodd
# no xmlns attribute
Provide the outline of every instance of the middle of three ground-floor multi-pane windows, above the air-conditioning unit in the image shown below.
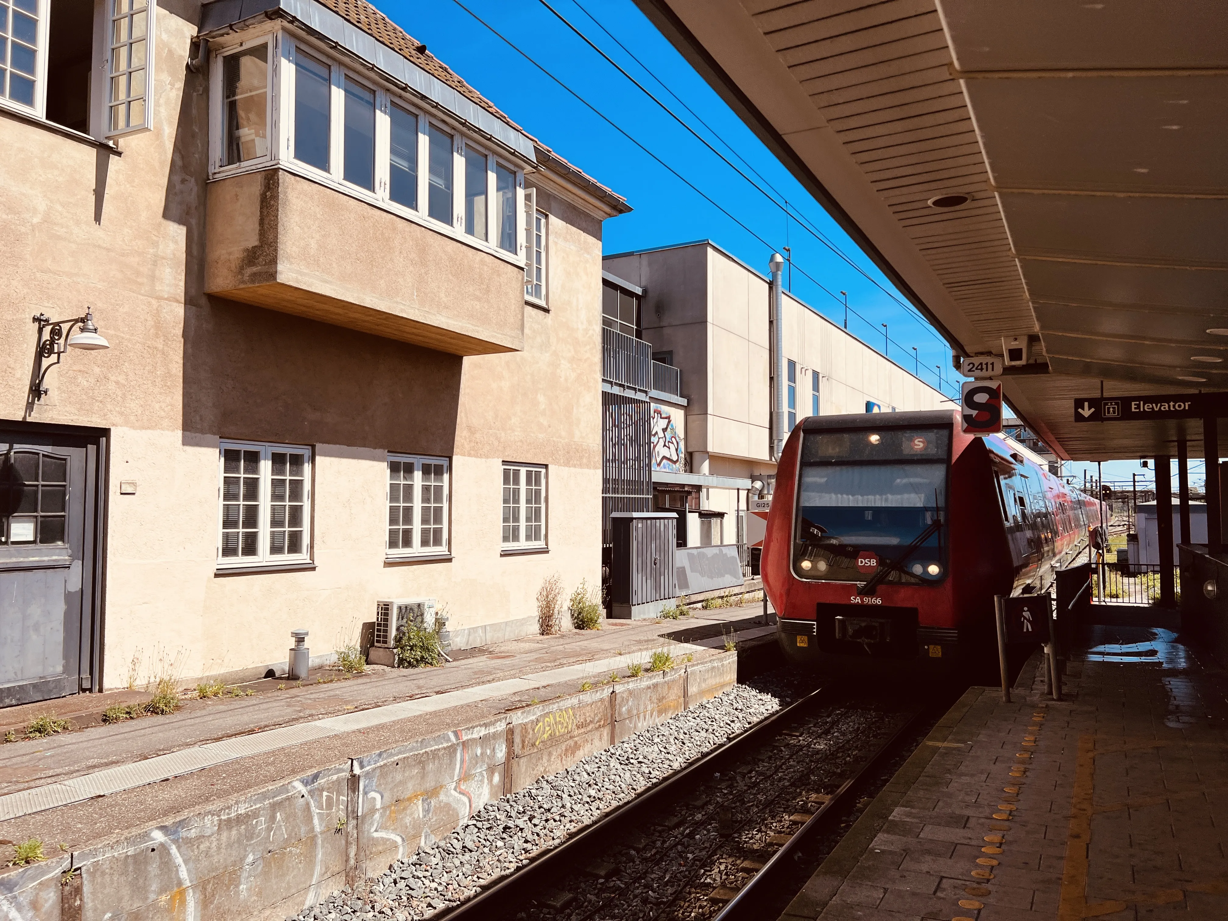
<svg viewBox="0 0 1228 921"><path fill-rule="evenodd" d="M388 457L389 556L448 550L448 462L442 457Z"/></svg>

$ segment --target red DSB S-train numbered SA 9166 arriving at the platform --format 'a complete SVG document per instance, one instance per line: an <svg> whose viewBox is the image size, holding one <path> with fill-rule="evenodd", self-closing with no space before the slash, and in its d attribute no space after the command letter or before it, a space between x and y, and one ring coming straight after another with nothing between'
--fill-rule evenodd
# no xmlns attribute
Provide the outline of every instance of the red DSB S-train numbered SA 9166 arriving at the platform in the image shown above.
<svg viewBox="0 0 1228 921"><path fill-rule="evenodd" d="M791 659L949 667L992 656L993 596L1046 581L1099 522L958 411L810 416L777 465L760 566Z"/></svg>

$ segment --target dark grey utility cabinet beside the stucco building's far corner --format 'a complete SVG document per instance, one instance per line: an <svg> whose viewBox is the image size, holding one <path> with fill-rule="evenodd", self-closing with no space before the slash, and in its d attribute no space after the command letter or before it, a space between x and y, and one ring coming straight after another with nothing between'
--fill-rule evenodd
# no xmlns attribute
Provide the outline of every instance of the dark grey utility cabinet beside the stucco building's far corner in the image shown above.
<svg viewBox="0 0 1228 921"><path fill-rule="evenodd" d="M678 516L673 512L614 512L610 559L610 616L656 618L677 597Z"/></svg>

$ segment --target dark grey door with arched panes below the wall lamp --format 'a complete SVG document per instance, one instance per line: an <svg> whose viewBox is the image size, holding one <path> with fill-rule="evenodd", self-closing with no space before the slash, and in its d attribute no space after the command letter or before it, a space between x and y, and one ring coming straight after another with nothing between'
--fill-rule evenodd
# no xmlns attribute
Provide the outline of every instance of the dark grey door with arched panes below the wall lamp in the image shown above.
<svg viewBox="0 0 1228 921"><path fill-rule="evenodd" d="M0 706L95 688L101 446L0 427Z"/></svg>

